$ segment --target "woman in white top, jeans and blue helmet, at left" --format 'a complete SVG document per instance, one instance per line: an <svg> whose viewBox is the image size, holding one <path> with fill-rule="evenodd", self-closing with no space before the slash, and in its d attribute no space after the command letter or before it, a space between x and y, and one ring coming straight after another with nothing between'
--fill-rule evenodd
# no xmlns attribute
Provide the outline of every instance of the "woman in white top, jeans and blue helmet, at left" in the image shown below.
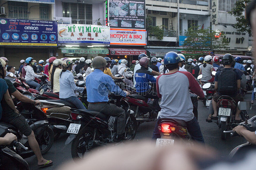
<svg viewBox="0 0 256 170"><path fill-rule="evenodd" d="M33 68L32 68L32 65L34 65L35 63L32 62L33 58L32 57L28 57L26 59L26 66L24 67L25 71L26 71L26 75L25 75L25 80L26 80L26 83L28 85L31 85L32 87L36 87L36 90L39 90L40 88L40 84L39 83L36 83L34 80L35 80L35 77L36 78L41 78L43 77L44 75L36 75Z"/></svg>

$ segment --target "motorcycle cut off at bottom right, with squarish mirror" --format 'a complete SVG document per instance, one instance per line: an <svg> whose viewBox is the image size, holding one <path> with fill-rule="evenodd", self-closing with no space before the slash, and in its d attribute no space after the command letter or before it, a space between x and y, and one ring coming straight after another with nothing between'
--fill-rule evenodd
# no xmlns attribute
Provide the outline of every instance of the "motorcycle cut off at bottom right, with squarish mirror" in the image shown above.
<svg viewBox="0 0 256 170"><path fill-rule="evenodd" d="M238 103L238 108L240 110L250 110L251 102L241 101ZM253 116L251 119L241 122L239 125L244 126L247 130L249 130L251 132L255 132L256 131L256 116ZM230 136L232 136L232 137L238 136L238 134L236 132L234 132L233 130L224 131L224 133L230 133ZM246 142L245 144L236 146L230 152L228 157L230 160L234 160L234 161L242 160L245 157L246 153L248 153L249 151L255 150L255 149L256 149L255 145L252 145L251 143Z"/></svg>

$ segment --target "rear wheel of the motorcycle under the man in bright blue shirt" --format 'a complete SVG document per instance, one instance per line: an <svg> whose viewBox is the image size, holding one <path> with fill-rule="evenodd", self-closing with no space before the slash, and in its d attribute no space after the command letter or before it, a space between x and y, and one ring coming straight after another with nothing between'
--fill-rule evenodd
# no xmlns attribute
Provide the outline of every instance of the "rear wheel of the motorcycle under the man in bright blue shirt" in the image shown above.
<svg viewBox="0 0 256 170"><path fill-rule="evenodd" d="M73 160L83 159L86 152L92 150L95 146L89 146L88 142L93 139L93 129L83 128L78 132L76 138L72 141L71 155Z"/></svg>

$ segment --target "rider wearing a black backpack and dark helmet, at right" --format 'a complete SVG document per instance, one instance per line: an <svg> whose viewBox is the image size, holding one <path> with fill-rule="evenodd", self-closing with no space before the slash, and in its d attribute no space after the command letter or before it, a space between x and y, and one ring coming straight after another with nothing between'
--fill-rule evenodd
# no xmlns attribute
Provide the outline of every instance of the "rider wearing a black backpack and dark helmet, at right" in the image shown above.
<svg viewBox="0 0 256 170"><path fill-rule="evenodd" d="M213 115L209 115L206 121L210 121L211 119L217 119L218 110L217 110L217 100L221 95L229 95L232 97L236 103L238 101L242 101L243 98L237 92L241 88L241 74L239 74L239 70L231 67L234 58L230 54L223 55L222 63L225 65L224 68L217 71L215 75L215 90L217 91L213 95L212 107L214 110ZM241 122L239 117L241 110L236 108L236 117L235 120L237 122Z"/></svg>

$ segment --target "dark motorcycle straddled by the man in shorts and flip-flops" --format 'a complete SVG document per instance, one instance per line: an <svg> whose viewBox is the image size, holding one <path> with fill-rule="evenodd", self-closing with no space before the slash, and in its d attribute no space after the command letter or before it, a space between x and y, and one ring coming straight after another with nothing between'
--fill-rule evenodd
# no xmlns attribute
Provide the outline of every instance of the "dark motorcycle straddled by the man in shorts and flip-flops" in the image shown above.
<svg viewBox="0 0 256 170"><path fill-rule="evenodd" d="M26 95L26 97L32 100L35 99L34 95L29 92L24 92L23 95ZM24 104L18 102L17 110L19 110L20 114L26 118L26 122L28 125L30 125L31 130L34 131L36 140L41 150L41 154L46 154L51 149L54 140L54 134L49 127L49 122L46 120L46 115L39 108L39 106L28 103ZM15 126L5 122L0 122L0 125L8 127L10 132L17 136L18 141L28 148L28 150L24 150L24 148L16 147L14 151L17 154L19 154L24 159L34 155L33 150L31 150L29 146L27 137L22 135Z"/></svg>

